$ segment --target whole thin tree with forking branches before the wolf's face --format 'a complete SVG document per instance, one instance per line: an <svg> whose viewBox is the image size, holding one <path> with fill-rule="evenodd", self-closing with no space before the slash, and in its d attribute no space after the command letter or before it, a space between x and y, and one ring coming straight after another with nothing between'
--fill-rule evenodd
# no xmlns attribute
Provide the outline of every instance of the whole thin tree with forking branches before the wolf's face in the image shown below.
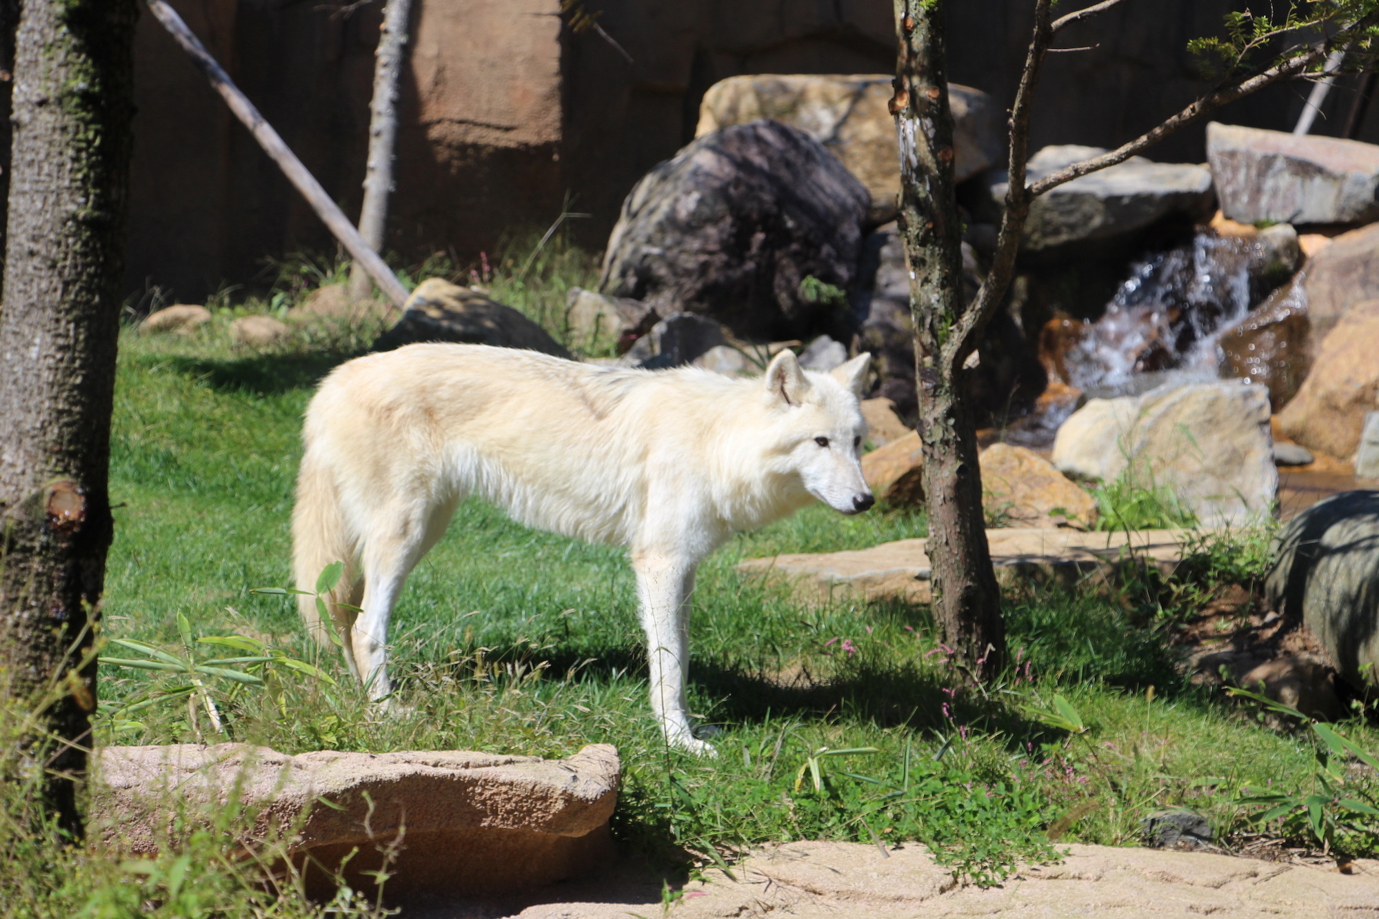
<svg viewBox="0 0 1379 919"><path fill-rule="evenodd" d="M1305 8L1288 6L1277 22L1231 14L1225 39L1193 44L1219 63L1220 72L1209 92L1114 150L1026 182L1030 108L1054 37L1127 1L1102 0L1054 19L1054 0L1033 0L1033 33L1008 123L1005 211L987 276L971 302L964 302L943 40L947 4L945 0L895 0L899 54L891 113L900 150L899 229L910 270L916 330L918 433L929 513L934 611L943 642L976 676L989 676L1003 665L1005 629L986 541L975 418L963 384L963 366L1009 288L1034 197L1080 175L1123 163L1227 102L1280 80L1313 75L1340 48L1350 48L1353 66L1364 66L1372 61L1379 40L1379 0L1327 0ZM1332 28L1331 36L1320 44L1300 40L1288 44L1294 37L1316 34L1324 25L1339 28Z"/></svg>

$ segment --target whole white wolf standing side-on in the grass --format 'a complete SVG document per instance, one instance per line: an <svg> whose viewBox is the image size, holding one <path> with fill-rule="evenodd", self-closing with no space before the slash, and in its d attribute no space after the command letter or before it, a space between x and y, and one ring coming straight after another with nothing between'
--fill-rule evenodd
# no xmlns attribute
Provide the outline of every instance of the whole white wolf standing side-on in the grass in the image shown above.
<svg viewBox="0 0 1379 919"><path fill-rule="evenodd" d="M350 360L306 410L292 513L296 586L334 562L345 660L386 698L387 624L412 567L469 494L527 526L627 546L666 740L712 752L685 711L695 566L736 531L818 498L866 511L858 395L869 355L830 374L782 352L761 378L627 370L483 345ZM308 628L324 638L314 597ZM356 614L348 606L360 607Z"/></svg>

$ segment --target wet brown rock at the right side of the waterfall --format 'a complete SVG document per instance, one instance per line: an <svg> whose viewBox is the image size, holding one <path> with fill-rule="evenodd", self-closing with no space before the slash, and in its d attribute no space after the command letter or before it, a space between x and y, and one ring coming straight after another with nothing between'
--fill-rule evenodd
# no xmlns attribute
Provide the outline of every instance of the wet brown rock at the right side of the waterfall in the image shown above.
<svg viewBox="0 0 1379 919"><path fill-rule="evenodd" d="M1265 386L1274 411L1287 406L1311 368L1311 317L1300 279L1276 290L1218 341L1226 373Z"/></svg>

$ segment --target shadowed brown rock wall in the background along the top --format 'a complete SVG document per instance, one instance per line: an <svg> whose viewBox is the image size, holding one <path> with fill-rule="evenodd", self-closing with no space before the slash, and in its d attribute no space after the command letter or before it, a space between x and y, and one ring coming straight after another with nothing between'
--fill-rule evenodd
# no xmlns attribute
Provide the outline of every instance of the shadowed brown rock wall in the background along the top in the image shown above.
<svg viewBox="0 0 1379 919"><path fill-rule="evenodd" d="M172 0L193 30L348 214L359 208L378 3ZM889 0L587 0L622 51L561 23L558 0L416 0L403 81L389 244L408 259L492 251L505 230L545 228L568 192L583 241L603 246L623 196L694 137L699 99L742 73L888 73ZM1219 28L1231 0L1125 4L1059 36L1031 149L1114 146L1204 84L1189 37ZM1262 3L1255 6L1263 6ZM950 79L1014 95L1029 30L1025 0L949 4ZM182 299L251 281L265 258L334 243L152 17L137 39L134 200L127 286ZM630 57L630 62L623 57ZM1284 128L1302 90L1278 87L1219 119ZM1338 84L1318 132L1338 132ZM1379 106L1375 106L1379 109ZM1201 161L1202 127L1151 152ZM1379 115L1369 131L1379 132Z"/></svg>

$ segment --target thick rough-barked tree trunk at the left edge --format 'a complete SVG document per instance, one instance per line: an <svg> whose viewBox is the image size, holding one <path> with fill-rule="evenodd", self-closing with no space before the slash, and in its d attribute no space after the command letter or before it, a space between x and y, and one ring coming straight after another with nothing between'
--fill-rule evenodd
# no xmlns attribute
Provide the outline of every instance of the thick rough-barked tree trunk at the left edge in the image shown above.
<svg viewBox="0 0 1379 919"><path fill-rule="evenodd" d="M26 0L0 306L0 662L51 731L46 798L81 832L134 116L134 0Z"/></svg>

